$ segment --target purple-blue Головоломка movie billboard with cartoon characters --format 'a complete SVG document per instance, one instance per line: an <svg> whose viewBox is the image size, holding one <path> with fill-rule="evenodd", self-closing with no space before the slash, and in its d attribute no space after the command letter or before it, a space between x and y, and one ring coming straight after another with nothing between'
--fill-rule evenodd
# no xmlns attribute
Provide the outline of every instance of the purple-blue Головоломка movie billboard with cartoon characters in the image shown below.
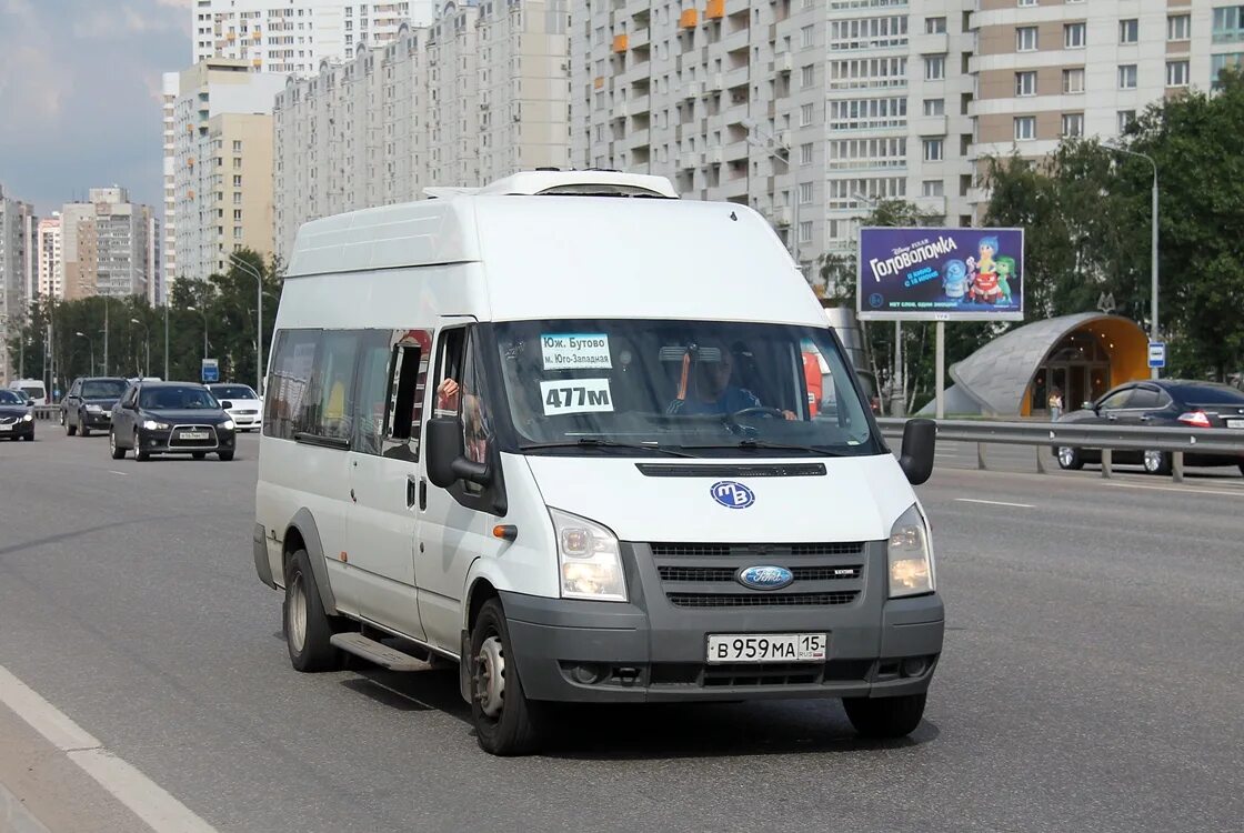
<svg viewBox="0 0 1244 833"><path fill-rule="evenodd" d="M865 321L1021 321L1023 229L860 229Z"/></svg>

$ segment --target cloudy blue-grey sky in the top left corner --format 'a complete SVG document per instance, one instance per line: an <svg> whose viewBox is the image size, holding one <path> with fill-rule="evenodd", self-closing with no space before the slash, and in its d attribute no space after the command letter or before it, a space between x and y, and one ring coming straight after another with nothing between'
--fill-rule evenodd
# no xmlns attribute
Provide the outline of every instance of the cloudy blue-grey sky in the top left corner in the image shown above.
<svg viewBox="0 0 1244 833"><path fill-rule="evenodd" d="M0 184L40 216L122 185L163 210L160 75L192 0L0 0Z"/></svg>

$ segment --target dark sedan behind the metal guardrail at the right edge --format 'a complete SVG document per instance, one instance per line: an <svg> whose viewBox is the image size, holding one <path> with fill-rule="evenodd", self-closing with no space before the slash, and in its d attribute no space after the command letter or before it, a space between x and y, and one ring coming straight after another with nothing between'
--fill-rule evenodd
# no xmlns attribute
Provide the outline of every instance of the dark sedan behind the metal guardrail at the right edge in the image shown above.
<svg viewBox="0 0 1244 833"><path fill-rule="evenodd" d="M1059 421L1244 429L1244 390L1213 382L1186 379L1130 382L1108 390L1097 402L1086 402L1084 408L1064 415ZM1080 469L1086 463L1101 463L1100 449L1064 445L1054 448L1054 456L1064 469ZM1111 456L1115 463L1143 465L1149 474L1171 474L1171 454L1167 451L1115 451ZM1242 455L1184 454L1184 463L1189 466L1239 466L1244 474Z"/></svg>

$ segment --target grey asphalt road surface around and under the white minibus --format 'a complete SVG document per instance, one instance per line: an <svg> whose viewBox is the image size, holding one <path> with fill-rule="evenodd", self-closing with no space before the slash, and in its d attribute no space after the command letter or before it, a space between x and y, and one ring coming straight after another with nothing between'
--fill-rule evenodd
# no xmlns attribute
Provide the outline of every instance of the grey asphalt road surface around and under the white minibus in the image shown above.
<svg viewBox="0 0 1244 833"><path fill-rule="evenodd" d="M833 701L587 709L498 760L453 673L290 668L251 562L255 438L228 464L106 444L0 444L0 666L219 831L1244 827L1238 472L943 450L921 497L948 633L902 742Z"/></svg>

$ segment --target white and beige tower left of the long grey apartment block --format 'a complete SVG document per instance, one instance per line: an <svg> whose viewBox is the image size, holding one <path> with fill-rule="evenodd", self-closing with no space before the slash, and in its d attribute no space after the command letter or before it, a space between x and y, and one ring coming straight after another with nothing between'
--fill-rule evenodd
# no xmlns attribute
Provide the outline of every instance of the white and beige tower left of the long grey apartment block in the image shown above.
<svg viewBox="0 0 1244 833"><path fill-rule="evenodd" d="M165 165L173 172L177 280L224 272L239 249L272 252L271 112L285 83L284 75L229 58L180 73Z"/></svg>

